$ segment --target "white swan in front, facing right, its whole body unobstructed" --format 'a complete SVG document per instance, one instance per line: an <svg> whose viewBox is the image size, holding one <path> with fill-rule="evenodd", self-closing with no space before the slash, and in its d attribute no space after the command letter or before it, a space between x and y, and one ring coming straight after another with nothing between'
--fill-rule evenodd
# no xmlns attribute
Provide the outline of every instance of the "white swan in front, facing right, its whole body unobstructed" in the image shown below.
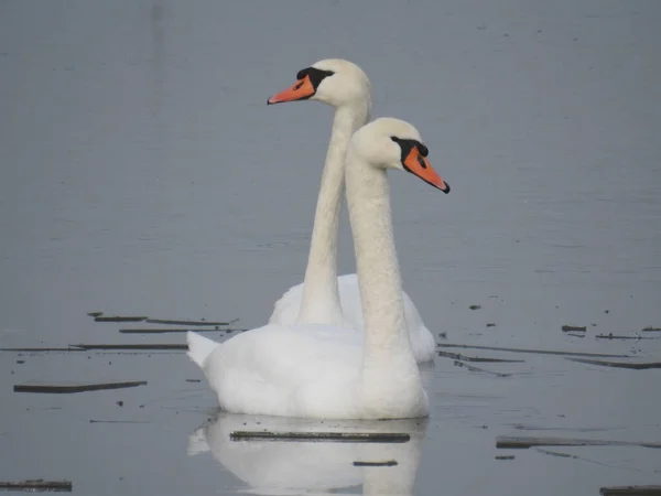
<svg viewBox="0 0 661 496"><path fill-rule="evenodd" d="M365 332L329 324L267 324L218 344L188 332L188 357L231 413L310 419L401 419L429 414L404 321L387 169L449 186L426 160L410 123L381 118L347 151L347 203Z"/></svg>

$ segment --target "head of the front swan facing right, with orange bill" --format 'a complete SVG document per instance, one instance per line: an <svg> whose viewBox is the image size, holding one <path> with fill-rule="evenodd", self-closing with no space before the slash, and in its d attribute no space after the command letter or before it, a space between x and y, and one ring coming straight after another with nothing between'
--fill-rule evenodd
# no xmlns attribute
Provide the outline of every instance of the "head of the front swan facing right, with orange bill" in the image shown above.
<svg viewBox="0 0 661 496"><path fill-rule="evenodd" d="M410 172L443 193L449 193L449 184L432 169L426 158L429 149L420 132L404 120L384 117L365 125L354 133L349 150L372 166Z"/></svg>

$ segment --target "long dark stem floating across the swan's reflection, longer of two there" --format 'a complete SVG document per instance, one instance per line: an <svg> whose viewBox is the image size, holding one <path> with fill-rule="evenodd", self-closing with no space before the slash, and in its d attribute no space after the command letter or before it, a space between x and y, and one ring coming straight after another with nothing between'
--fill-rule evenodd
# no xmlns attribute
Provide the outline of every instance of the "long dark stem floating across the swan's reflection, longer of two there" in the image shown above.
<svg viewBox="0 0 661 496"><path fill-rule="evenodd" d="M340 443L405 443L411 436L403 432L273 432L234 431L232 441L332 441Z"/></svg>

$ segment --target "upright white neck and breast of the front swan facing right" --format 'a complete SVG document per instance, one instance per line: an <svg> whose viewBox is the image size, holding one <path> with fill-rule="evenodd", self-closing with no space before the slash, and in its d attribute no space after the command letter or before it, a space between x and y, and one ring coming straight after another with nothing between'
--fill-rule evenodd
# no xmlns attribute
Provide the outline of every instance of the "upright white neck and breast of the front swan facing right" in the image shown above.
<svg viewBox="0 0 661 496"><path fill-rule="evenodd" d="M368 416L397 418L424 392L404 320L388 176L349 149L346 182L365 321L359 395Z"/></svg>

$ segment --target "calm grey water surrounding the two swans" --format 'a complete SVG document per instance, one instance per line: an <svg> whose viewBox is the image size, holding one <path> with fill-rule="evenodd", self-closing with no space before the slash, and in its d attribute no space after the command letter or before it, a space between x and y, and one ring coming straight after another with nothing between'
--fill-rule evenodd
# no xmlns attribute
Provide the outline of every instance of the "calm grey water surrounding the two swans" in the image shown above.
<svg viewBox="0 0 661 496"><path fill-rule="evenodd" d="M661 339L595 335L661 326L660 24L654 0L0 2L0 345L183 338L122 336L90 311L263 324L303 277L332 117L266 99L345 57L369 75L375 115L415 123L453 186L391 174L405 287L435 334L659 359ZM340 265L354 271L346 218ZM2 352L0 481L108 495L661 483L658 450L495 448L500 434L661 442L659 370L513 357L485 365L509 377L437 358L429 422L391 425L412 441L375 448L228 443L243 423L315 425L201 428L214 399L181 353ZM149 385L12 392L136 379ZM398 465L353 465L379 457Z"/></svg>

